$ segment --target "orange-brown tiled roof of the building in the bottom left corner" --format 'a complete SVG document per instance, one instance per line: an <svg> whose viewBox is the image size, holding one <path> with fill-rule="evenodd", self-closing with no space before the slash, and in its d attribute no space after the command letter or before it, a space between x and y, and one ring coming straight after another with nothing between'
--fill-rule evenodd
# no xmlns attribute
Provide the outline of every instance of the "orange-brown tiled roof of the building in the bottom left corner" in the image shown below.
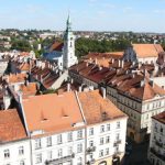
<svg viewBox="0 0 165 165"><path fill-rule="evenodd" d="M0 143L25 139L25 129L16 109L0 111Z"/></svg>

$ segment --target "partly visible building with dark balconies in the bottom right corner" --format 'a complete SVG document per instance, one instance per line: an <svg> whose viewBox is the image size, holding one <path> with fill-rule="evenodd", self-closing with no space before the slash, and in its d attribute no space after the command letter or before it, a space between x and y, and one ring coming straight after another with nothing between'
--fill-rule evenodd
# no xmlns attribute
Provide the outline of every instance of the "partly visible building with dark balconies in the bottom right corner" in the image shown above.
<svg viewBox="0 0 165 165"><path fill-rule="evenodd" d="M165 164L165 111L152 118L147 158L152 165Z"/></svg>

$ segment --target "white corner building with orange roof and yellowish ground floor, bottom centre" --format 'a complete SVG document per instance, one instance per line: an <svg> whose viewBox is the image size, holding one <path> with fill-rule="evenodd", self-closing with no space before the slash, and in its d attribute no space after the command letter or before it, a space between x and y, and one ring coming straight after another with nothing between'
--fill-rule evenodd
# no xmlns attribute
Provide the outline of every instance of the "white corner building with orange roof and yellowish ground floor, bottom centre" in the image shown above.
<svg viewBox="0 0 165 165"><path fill-rule="evenodd" d="M99 90L78 94L86 122L86 164L118 165L125 150L128 117Z"/></svg>

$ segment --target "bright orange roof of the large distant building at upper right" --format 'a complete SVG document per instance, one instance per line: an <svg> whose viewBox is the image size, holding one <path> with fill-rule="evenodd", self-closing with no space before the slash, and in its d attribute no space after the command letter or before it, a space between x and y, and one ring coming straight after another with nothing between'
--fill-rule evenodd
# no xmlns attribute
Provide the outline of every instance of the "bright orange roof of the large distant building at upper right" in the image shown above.
<svg viewBox="0 0 165 165"><path fill-rule="evenodd" d="M138 57L158 57L164 52L160 44L132 44Z"/></svg>

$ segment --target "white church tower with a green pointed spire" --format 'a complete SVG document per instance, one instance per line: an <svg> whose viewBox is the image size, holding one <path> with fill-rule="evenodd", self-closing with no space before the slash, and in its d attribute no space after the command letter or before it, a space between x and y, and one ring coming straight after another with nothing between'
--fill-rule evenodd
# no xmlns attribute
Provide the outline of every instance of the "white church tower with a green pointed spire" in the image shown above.
<svg viewBox="0 0 165 165"><path fill-rule="evenodd" d="M63 69L68 69L77 62L77 57L75 56L75 35L73 34L70 16L68 15L64 34Z"/></svg>

